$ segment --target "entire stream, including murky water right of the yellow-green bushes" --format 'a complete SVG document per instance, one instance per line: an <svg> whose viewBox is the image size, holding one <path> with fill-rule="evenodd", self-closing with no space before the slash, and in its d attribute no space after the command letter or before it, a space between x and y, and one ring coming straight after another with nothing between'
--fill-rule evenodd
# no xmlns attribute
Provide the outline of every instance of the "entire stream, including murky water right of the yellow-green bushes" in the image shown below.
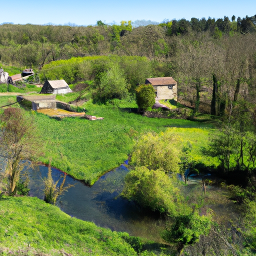
<svg viewBox="0 0 256 256"><path fill-rule="evenodd" d="M135 203L119 196L128 172L126 163L102 175L91 187L67 175L65 185L73 186L58 198L56 205L68 215L94 222L98 226L163 242L160 234L164 230L164 218L157 213L143 211ZM59 180L60 183L63 172L53 167L51 172L53 180ZM48 167L43 165L28 169L30 196L43 199L43 178L47 173ZM190 178L189 184L182 186L182 193L189 203L198 203L202 194L200 182L199 179ZM226 224L239 214L236 205L229 198L227 189L206 185L204 205L200 212L206 214L207 208L211 208L214 211L214 219Z"/></svg>

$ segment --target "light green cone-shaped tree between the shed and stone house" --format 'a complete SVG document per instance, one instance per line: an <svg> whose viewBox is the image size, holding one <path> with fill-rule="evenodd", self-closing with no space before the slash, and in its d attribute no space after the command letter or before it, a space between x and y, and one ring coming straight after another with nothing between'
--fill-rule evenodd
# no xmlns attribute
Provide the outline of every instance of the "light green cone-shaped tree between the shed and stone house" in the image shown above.
<svg viewBox="0 0 256 256"><path fill-rule="evenodd" d="M101 102L112 98L125 98L127 95L127 81L117 64L100 74L99 83L92 93L93 99Z"/></svg>

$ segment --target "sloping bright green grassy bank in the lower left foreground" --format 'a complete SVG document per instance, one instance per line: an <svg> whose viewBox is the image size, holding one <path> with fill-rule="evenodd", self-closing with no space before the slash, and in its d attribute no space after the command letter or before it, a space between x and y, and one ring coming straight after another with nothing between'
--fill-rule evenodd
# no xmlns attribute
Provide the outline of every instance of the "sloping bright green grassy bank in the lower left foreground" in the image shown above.
<svg viewBox="0 0 256 256"><path fill-rule="evenodd" d="M137 254L125 234L70 217L35 197L1 198L0 223L1 255Z"/></svg>

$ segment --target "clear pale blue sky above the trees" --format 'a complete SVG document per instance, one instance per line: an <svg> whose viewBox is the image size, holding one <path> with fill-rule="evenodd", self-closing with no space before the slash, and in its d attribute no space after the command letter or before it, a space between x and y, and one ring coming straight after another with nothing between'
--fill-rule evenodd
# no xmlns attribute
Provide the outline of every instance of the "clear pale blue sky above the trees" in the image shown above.
<svg viewBox="0 0 256 256"><path fill-rule="evenodd" d="M190 20L191 17L223 18L256 14L256 0L10 0L0 14L0 24L94 25L97 20L119 24L121 20ZM4 3L2 3L4 4ZM1 5L2 5L1 4Z"/></svg>

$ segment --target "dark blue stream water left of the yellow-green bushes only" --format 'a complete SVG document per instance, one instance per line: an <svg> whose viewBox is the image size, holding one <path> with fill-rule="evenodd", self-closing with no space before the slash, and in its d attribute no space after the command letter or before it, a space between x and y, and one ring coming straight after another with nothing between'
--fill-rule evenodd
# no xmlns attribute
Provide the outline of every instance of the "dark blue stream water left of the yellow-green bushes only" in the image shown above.
<svg viewBox="0 0 256 256"><path fill-rule="evenodd" d="M58 180L63 173L51 169L53 180ZM47 171L46 166L29 170L31 196L43 199L42 179L46 177ZM133 202L118 196L127 172L128 169L121 165L101 176L91 187L67 176L66 184L75 185L60 196L56 205L71 216L92 221L99 226L161 241L159 233L164 227L164 221L157 214L143 212Z"/></svg>

